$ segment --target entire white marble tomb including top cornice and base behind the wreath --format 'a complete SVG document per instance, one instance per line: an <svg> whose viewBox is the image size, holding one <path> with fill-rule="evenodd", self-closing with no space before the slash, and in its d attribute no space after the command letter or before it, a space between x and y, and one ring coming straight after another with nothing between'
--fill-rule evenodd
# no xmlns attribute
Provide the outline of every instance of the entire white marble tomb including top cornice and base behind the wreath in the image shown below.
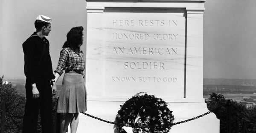
<svg viewBox="0 0 256 133"><path fill-rule="evenodd" d="M175 122L207 113L204 2L87 0L87 113L114 121L119 105L140 92L167 101ZM78 133L117 133L112 124L79 119ZM171 132L218 133L219 120L210 113Z"/></svg>

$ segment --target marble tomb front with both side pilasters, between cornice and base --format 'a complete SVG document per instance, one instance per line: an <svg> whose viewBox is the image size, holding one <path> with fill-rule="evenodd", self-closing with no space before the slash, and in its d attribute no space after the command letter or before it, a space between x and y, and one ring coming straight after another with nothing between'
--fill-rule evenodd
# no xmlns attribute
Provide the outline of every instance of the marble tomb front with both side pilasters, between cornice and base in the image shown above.
<svg viewBox="0 0 256 133"><path fill-rule="evenodd" d="M204 8L87 9L89 97L203 99Z"/></svg>

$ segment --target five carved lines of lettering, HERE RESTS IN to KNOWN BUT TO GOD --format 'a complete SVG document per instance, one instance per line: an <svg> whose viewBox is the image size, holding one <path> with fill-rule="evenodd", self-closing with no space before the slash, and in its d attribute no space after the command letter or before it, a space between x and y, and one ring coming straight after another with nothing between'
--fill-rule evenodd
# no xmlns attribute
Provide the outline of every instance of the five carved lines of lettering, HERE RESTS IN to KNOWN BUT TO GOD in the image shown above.
<svg viewBox="0 0 256 133"><path fill-rule="evenodd" d="M169 58L178 55L177 42L180 43L180 40L184 38L183 34L180 34L178 20L110 20L109 24L112 24L112 32L107 32L108 39L115 43L111 45L111 48L108 48L108 53L115 56L120 56L124 58L121 64L117 65L118 69L142 72L142 71L161 71L169 70L170 64L168 60L164 59L155 59L155 58ZM182 25L182 24L181 24ZM130 27L134 26L134 27ZM140 28L138 28L140 26ZM129 27L129 28L128 28ZM145 28L144 28L145 27ZM168 29L169 28L169 29ZM172 30L172 28L174 30ZM118 29L118 30L116 30ZM120 29L120 30L119 30ZM147 32L147 29L149 32ZM153 29L153 30L150 30ZM162 30L161 30L162 29ZM146 32L145 32L146 31ZM131 42L131 46L122 45L122 42ZM135 42L135 43L134 43ZM137 43L139 42L139 43ZM145 43L144 43L145 42ZM149 43L148 43L149 42ZM151 43L155 42L155 43ZM161 42L161 43L158 43ZM147 45L148 43L148 45ZM136 44L136 46L134 45ZM143 46L140 46L143 44ZM144 46L145 45L145 46ZM135 46L135 47L134 47ZM147 47L148 46L148 47ZM172 47L173 46L173 47ZM111 51L112 49L112 51ZM180 49L179 49L180 50ZM181 48L181 52L182 52ZM180 54L179 51L179 54ZM139 61L125 61L125 55L136 58ZM142 56L143 58L140 58ZM149 58L147 58L147 56ZM153 57L154 56L154 57ZM180 55L178 55L180 56ZM135 59L134 58L134 59ZM152 60L151 60L152 59ZM153 61L154 59L154 61ZM175 59L175 57L173 58ZM175 62L175 61L174 61ZM128 71L127 71L128 72ZM148 71L149 72L149 71ZM171 74L171 73L170 73ZM159 82L159 83L175 83L177 82L177 77L160 77L160 75L153 75L152 77L128 77L124 75L114 76L111 75L111 81L113 82ZM177 83L176 83L177 84Z"/></svg>

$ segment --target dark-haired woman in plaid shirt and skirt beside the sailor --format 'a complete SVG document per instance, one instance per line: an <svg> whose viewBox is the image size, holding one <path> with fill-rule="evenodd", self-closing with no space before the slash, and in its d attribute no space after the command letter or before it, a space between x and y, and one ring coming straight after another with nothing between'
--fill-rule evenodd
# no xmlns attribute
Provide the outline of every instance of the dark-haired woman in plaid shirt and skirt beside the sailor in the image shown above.
<svg viewBox="0 0 256 133"><path fill-rule="evenodd" d="M74 27L67 33L67 40L62 46L61 55L55 72L55 81L65 70L61 93L58 100L58 113L66 113L61 122L61 133L65 133L70 124L71 133L76 133L79 112L87 110L87 93L84 82L84 53L80 46L83 44L82 26ZM53 82L52 90L56 90Z"/></svg>

